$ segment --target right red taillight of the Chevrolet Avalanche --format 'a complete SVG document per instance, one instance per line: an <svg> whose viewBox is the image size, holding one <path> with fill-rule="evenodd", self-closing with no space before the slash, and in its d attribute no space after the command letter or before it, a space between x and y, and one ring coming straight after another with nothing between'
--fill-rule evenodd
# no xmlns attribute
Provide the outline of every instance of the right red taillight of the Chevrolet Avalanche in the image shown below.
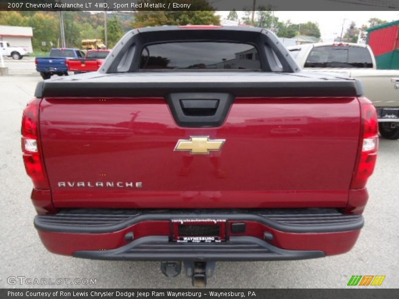
<svg viewBox="0 0 399 299"><path fill-rule="evenodd" d="M378 151L378 120L373 104L365 97L359 98L361 107L361 144L351 189L363 189L373 174Z"/></svg>

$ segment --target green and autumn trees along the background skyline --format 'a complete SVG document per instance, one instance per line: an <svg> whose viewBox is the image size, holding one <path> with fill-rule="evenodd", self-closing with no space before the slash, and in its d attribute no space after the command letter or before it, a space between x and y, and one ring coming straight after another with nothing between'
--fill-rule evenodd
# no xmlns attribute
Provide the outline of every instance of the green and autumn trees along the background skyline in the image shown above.
<svg viewBox="0 0 399 299"><path fill-rule="evenodd" d="M112 11L107 13L108 47L112 48L125 32L132 28L156 25L187 25L187 24L220 24L220 17L204 0L196 0L198 10L138 10L131 12ZM206 10L205 10L206 9ZM319 25L308 21L292 23L281 21L268 7L258 7L254 12L245 11L239 18L237 11L229 12L227 19L239 21L242 24L269 28L279 37L292 38L296 35L320 37ZM82 39L103 39L104 12L64 11L64 30L67 47L81 47ZM387 21L371 18L367 25L358 28L351 22L343 40L356 42L360 31L377 26ZM61 46L60 12L59 11L0 11L0 25L29 26L33 28L32 45L35 51L48 51L52 47Z"/></svg>

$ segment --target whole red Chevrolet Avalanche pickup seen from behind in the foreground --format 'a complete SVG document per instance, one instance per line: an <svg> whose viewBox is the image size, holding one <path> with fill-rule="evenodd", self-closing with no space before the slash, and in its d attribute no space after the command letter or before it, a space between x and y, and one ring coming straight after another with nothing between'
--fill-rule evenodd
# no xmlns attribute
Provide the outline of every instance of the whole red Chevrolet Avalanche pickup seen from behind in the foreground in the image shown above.
<svg viewBox="0 0 399 299"><path fill-rule="evenodd" d="M183 262L195 286L215 261L351 250L377 148L360 81L302 71L254 27L134 29L98 72L38 83L22 118L50 252Z"/></svg>

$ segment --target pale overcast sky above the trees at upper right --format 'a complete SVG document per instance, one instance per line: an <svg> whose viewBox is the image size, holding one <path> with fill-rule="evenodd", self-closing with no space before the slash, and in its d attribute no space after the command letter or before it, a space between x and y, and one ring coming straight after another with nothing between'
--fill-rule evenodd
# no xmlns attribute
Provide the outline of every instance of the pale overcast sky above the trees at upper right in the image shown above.
<svg viewBox="0 0 399 299"><path fill-rule="evenodd" d="M218 11L218 13L222 17L226 17L228 11ZM243 15L243 13L240 12L239 15ZM351 21L354 21L360 27L367 24L367 21L372 17L387 21L399 19L399 11L274 11L274 15L280 21L291 20L292 23L317 22L324 39L340 35L344 19L344 32Z"/></svg>

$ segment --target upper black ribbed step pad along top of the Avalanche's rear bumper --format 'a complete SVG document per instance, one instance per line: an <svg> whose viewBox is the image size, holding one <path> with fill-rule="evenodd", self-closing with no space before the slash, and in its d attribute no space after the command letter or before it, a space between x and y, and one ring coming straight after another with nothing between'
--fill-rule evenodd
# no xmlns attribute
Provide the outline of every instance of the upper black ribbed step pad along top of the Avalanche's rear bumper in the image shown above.
<svg viewBox="0 0 399 299"><path fill-rule="evenodd" d="M268 210L98 210L71 209L54 215L37 215L38 230L62 233L110 233L144 221L178 219L226 219L255 221L268 227L293 233L342 232L361 229L362 215L345 215L336 209L268 209ZM306 211L306 212L305 212Z"/></svg>

